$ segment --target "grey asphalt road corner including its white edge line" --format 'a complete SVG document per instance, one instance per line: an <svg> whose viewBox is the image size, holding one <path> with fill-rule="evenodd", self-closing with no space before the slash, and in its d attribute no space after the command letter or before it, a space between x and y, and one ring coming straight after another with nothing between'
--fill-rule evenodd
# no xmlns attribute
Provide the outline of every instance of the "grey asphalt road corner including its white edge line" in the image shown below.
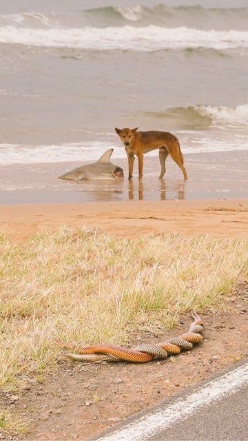
<svg viewBox="0 0 248 441"><path fill-rule="evenodd" d="M98 441L247 441L248 362L139 413Z"/></svg>

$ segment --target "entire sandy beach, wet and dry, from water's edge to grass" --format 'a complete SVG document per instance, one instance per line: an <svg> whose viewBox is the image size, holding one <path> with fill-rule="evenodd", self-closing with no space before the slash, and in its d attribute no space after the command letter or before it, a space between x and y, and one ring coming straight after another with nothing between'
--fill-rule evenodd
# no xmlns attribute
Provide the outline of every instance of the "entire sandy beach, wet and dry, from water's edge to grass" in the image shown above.
<svg viewBox="0 0 248 441"><path fill-rule="evenodd" d="M118 163L127 176L125 161ZM158 158L149 156L143 183L57 179L72 163L1 167L8 190L0 192L0 232L17 242L61 225L100 227L123 238L150 232L248 238L247 152L188 154L185 163L187 183L171 160L159 181Z"/></svg>

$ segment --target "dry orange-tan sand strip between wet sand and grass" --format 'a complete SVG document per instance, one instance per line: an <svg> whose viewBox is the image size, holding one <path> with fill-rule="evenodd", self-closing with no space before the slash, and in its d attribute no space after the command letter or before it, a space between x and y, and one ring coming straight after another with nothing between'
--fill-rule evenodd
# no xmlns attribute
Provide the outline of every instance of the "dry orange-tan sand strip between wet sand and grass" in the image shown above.
<svg viewBox="0 0 248 441"><path fill-rule="evenodd" d="M152 232L248 238L248 198L0 206L0 233L12 242L61 226L98 227L114 238Z"/></svg>

